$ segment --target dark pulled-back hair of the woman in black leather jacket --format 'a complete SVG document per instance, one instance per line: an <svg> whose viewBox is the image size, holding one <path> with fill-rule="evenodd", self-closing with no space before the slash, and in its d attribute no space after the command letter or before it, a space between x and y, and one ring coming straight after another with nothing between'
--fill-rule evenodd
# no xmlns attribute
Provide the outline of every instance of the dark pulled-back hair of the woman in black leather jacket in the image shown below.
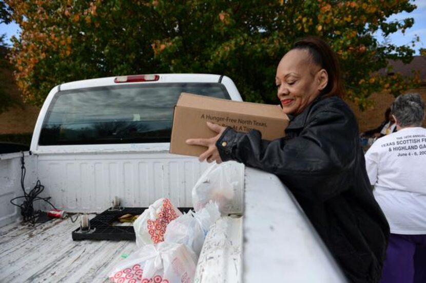
<svg viewBox="0 0 426 283"><path fill-rule="evenodd" d="M339 61L327 42L316 36L307 36L296 41L293 49L307 50L314 63L327 71L328 83L322 94L326 97L343 97L345 95Z"/></svg>

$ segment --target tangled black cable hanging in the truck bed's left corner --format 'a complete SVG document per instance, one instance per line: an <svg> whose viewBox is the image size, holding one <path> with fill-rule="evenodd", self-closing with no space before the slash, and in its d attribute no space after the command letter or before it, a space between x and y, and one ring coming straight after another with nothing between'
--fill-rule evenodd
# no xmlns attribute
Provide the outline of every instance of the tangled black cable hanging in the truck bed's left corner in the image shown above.
<svg viewBox="0 0 426 283"><path fill-rule="evenodd" d="M22 188L22 191L24 192L24 195L22 195L21 197L13 198L12 200L10 200L10 203L13 204L14 206L21 208L21 214L24 217L24 222L30 222L32 225L34 225L36 216L38 215L38 211L34 212L34 207L33 207L34 201L43 200L47 202L48 204L50 204L54 209L56 209L56 207L49 202L51 197L47 197L47 198L38 197L38 194L40 194L44 190L44 186L41 184L40 180L37 180L34 188L30 190L28 193L25 191L24 180L25 180L26 168L25 168L25 162L24 162L24 152L21 151L21 153L22 153L21 188ZM18 200L18 199L24 199L24 202L21 205L13 203L14 200Z"/></svg>

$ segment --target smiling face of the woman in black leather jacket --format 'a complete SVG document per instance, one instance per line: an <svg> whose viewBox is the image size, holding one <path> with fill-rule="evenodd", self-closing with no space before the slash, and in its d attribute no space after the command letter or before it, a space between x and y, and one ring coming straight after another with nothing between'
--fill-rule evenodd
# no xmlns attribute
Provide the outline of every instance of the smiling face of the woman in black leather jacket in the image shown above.
<svg viewBox="0 0 426 283"><path fill-rule="evenodd" d="M325 88L327 80L327 72L312 61L307 50L289 51L278 64L275 78L283 112L300 114Z"/></svg>

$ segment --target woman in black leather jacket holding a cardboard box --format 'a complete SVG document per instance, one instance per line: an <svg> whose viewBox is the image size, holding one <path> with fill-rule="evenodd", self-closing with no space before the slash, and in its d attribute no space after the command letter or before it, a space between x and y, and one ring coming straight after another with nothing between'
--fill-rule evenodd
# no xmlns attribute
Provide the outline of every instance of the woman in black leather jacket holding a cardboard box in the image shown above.
<svg viewBox="0 0 426 283"><path fill-rule="evenodd" d="M200 161L236 160L277 175L346 276L378 281L389 226L371 192L355 117L339 98L334 53L323 40L304 38L281 59L275 80L290 118L285 138L265 141L257 130L244 134L208 123L216 137L187 143L207 147Z"/></svg>

